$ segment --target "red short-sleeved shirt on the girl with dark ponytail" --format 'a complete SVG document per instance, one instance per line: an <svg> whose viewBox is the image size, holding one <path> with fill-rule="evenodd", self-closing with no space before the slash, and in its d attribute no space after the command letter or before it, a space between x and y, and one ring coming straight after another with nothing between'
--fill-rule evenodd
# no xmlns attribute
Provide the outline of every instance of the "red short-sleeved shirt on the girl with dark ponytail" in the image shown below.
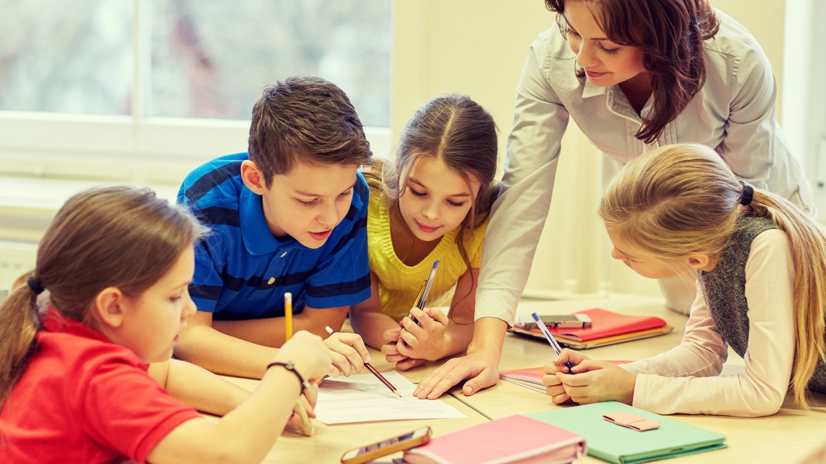
<svg viewBox="0 0 826 464"><path fill-rule="evenodd" d="M52 308L37 343L0 410L0 462L145 462L161 438L199 417L130 349Z"/></svg>

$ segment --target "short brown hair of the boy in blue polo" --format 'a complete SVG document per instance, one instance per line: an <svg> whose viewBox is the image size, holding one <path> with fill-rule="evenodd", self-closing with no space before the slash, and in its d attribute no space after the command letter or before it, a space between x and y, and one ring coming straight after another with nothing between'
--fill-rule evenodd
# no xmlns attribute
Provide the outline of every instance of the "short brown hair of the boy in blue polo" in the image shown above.
<svg viewBox="0 0 826 464"><path fill-rule="evenodd" d="M370 143L347 95L317 77L292 77L268 85L253 107L249 159L266 187L296 162L373 163Z"/></svg>

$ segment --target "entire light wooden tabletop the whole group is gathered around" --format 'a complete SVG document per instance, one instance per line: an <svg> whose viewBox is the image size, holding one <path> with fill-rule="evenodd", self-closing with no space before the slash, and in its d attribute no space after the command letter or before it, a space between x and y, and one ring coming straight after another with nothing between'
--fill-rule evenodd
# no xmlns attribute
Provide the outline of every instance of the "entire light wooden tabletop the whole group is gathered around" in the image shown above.
<svg viewBox="0 0 826 464"><path fill-rule="evenodd" d="M674 326L672 334L586 351L589 356L601 359L636 360L667 351L680 343L687 320L685 315L667 310L660 298L638 296L616 296L604 300L526 301L520 304L519 311L525 315L534 310L567 313L593 307L629 315L656 315ZM380 372L392 370L392 364L384 362L380 353L372 350L371 356L373 366ZM502 352L500 371L542 366L552 357L553 350L548 343L508 334ZM736 370L738 367L742 368L742 365L743 360L738 355L730 353L725 368ZM438 363L428 362L403 374L415 383L436 366ZM255 381L249 379L233 381L248 388L253 388L255 384ZM339 425L325 425L316 420L316 434L313 437L304 437L292 426L288 426L264 462L339 462L341 455L350 448L390 438L424 425L433 428L435 437L511 414L564 407L553 405L547 395L507 381L500 381L498 385L472 396L464 396L457 386L441 399L462 411L467 417ZM673 414L669 417L723 433L727 437L726 443L729 447L714 452L676 457L668 462L823 462L826 458L826 395L813 395L811 404L811 410L799 410L792 405L790 398L787 398L786 404L778 414L756 419ZM389 464L394 457L401 457L401 452L382 458L377 463ZM589 456L585 458L585 462L603 461Z"/></svg>

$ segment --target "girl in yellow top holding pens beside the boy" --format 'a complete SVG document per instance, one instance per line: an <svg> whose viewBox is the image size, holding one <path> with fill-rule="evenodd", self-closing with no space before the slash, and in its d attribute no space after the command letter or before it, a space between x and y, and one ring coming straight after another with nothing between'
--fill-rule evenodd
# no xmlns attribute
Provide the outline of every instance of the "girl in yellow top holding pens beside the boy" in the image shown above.
<svg viewBox="0 0 826 464"><path fill-rule="evenodd" d="M453 94L416 111L395 159L364 173L372 292L350 309L350 321L398 369L470 343L482 239L496 197L496 150L490 113ZM419 310L412 306L436 259L430 307ZM449 305L447 315L440 305Z"/></svg>

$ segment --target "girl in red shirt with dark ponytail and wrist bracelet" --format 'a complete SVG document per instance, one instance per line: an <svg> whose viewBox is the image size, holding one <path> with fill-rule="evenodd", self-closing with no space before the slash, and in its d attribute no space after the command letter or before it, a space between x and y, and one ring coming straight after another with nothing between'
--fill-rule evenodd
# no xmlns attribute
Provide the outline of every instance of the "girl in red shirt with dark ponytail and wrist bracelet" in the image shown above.
<svg viewBox="0 0 826 464"><path fill-rule="evenodd" d="M308 332L283 345L252 394L170 361L195 313L192 245L204 233L146 189L66 202L35 271L0 306L0 462L259 462L295 422L299 396L315 402L335 372Z"/></svg>

